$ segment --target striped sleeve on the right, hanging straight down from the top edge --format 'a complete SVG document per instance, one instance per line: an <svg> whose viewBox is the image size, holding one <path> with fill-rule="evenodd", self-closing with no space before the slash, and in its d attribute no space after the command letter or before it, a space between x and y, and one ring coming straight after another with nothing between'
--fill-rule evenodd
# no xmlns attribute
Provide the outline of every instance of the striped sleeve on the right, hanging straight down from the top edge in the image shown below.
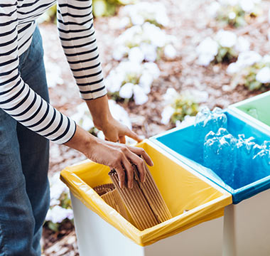
<svg viewBox="0 0 270 256"><path fill-rule="evenodd" d="M84 100L106 95L93 26L92 0L58 0L58 31Z"/></svg>

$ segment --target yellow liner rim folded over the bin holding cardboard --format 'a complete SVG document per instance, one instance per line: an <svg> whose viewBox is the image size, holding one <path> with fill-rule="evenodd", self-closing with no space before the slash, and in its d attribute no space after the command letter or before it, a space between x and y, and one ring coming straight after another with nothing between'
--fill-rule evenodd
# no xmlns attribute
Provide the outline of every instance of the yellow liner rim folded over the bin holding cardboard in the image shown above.
<svg viewBox="0 0 270 256"><path fill-rule="evenodd" d="M131 238L131 240L134 240L134 242L136 242L138 245L141 245L141 246L150 245L153 242L156 242L156 241L148 242L144 238L147 235L155 234L156 230L162 228L163 225L173 226L174 223L180 222L181 220L188 219L189 216L194 215L194 213L199 213L202 210L207 211L205 218L210 218L210 214L217 213L219 210L222 210L223 208L225 208L225 206L232 204L232 195L230 193L228 193L228 191L226 191L224 188L218 186L216 183L212 182L210 179L205 178L205 176L202 176L202 174L198 173L198 171L193 170L192 168L190 168L190 166L186 165L182 161L179 161L175 157L171 156L171 154L168 154L167 151L156 146L156 144L154 144L150 140L144 139L144 141L141 142L140 144L143 144L143 143L146 143L146 144L152 146L154 149L158 149L158 151L161 151L162 154L167 156L169 159L174 161L176 164L179 164L181 167L183 167L183 169L186 169L186 171L189 171L194 176L197 176L202 181L204 181L205 183L212 186L212 188L215 188L217 191L222 193L222 195L219 196L218 198L211 200L211 201L208 201L206 203L202 203L202 205L197 206L191 210L188 210L185 213L176 215L175 217L171 218L170 220L166 220L163 223L155 225L151 228L147 228L146 230L139 230L134 225L129 223L128 220L126 220L124 217L122 217L116 210L114 210L114 208L112 208L111 206L104 203L102 198L97 195L97 193L94 191L94 189L91 186L87 185L87 183L85 183L85 181L83 181L79 176L77 176L77 174L80 172L80 166L83 165L83 166L85 166L85 168L87 168L87 166L92 166L93 164L96 164L95 162L90 161L90 160L86 160L86 161L81 161L80 163L77 163L77 164L73 164L72 166L67 166L65 169L63 169L63 171L61 171L60 179L68 186L68 188L70 188L70 191L72 192L73 196L75 196L76 198L79 198L81 201L82 201L82 198L84 198L82 203L84 203L87 208L90 208L87 206L87 200L92 201L92 198L94 198L95 201L97 201L98 203L102 203L104 205L104 212L103 213L98 211L97 209L93 209L93 208L90 208L90 209L95 211L95 213L97 213L99 216L101 216L109 224L113 225L114 228L117 228L119 230L119 227L117 227L117 225L115 225L115 223L112 223L111 221L108 221L108 219L107 219L107 216L109 216L109 213L114 212L114 215L117 216L117 219L119 221L121 221L121 223L125 224L124 225L125 231L127 233L129 233L132 237L131 238L129 236L129 238ZM87 191L87 192L85 193L85 191L83 189L75 189L75 187L78 184L80 184L80 187L85 188L85 191ZM92 196L92 198L90 198L90 195ZM218 217L220 217L220 216L216 216L215 218L218 218ZM215 218L210 218L210 219L215 219ZM207 221L207 220L200 221L200 223L202 223L204 221ZM195 222L195 221L193 221L193 222ZM180 231L178 231L177 233L180 233L188 228L192 228L193 226L198 225L200 223L195 222L195 223L191 223L190 225L189 224L187 225L187 223L185 223L185 225L183 225L183 227L181 227L182 229ZM119 231L121 232L121 230L119 230ZM121 233L123 233L123 232L121 232ZM176 233L172 233L171 235L173 235L173 234L176 234ZM168 237L168 236L170 236L170 235L167 235L166 237ZM136 238L136 239L134 239L134 238ZM162 238L160 238L160 239L162 239Z"/></svg>

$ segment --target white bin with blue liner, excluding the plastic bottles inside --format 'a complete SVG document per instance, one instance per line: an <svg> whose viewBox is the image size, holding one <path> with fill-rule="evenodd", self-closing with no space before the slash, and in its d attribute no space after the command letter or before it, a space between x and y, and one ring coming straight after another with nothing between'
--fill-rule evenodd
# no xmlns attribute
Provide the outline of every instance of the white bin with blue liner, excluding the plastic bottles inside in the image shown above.
<svg viewBox="0 0 270 256"><path fill-rule="evenodd" d="M231 110L227 115L227 130L234 137L244 134L254 137L257 144L270 141L270 135L244 121L241 115ZM151 138L151 141L165 149L176 159L198 171L232 194L233 205L225 208L224 256L269 256L270 255L270 169L253 166L245 174L247 183L241 186L225 183L211 170L203 166L203 141L200 126L171 129ZM216 172L215 172L216 171ZM229 170L227 172L229 174ZM239 175L241 178L241 174Z"/></svg>

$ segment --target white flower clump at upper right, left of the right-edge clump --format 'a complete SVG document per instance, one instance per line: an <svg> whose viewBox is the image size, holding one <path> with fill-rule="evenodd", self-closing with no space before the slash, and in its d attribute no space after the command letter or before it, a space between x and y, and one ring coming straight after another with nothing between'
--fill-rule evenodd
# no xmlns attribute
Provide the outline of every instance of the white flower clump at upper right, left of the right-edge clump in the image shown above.
<svg viewBox="0 0 270 256"><path fill-rule="evenodd" d="M214 39L207 37L196 48L199 65L220 63L222 60L237 58L239 53L249 50L249 41L231 31L218 31Z"/></svg>

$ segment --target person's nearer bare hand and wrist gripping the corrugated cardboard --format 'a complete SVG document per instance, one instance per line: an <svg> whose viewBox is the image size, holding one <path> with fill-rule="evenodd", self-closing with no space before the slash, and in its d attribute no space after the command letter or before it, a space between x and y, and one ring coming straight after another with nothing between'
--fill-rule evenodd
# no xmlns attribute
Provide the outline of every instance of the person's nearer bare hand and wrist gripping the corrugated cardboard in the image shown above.
<svg viewBox="0 0 270 256"><path fill-rule="evenodd" d="M144 160L139 156L142 156L149 166L153 166L151 158L146 154L144 149L125 144L106 142L92 136L79 126L77 126L75 135L65 145L81 151L88 159L98 164L104 164L111 169L115 169L119 176L119 186L121 188L124 187L125 176L129 188L133 186L134 169L131 163L137 166L141 182L145 181L146 170L144 168Z"/></svg>

